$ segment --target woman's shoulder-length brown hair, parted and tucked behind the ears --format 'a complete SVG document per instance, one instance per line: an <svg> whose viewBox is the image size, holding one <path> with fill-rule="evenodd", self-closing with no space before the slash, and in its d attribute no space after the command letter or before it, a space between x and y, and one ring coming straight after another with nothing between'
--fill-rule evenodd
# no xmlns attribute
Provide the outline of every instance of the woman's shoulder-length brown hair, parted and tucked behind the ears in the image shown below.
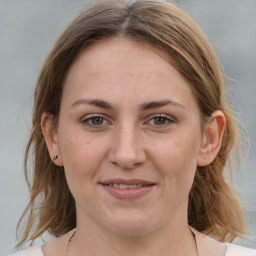
<svg viewBox="0 0 256 256"><path fill-rule="evenodd" d="M25 155L25 175L31 197L21 217L21 220L27 217L27 221L18 245L26 240L33 241L44 231L58 237L76 226L75 202L63 167L56 166L48 154L40 126L41 116L49 113L58 123L63 83L71 65L84 49L115 36L160 49L190 82L205 120L214 110L224 112L227 125L222 146L212 164L198 167L189 195L188 223L219 241L242 237L245 234L243 214L223 175L234 143L239 150L239 136L232 111L226 104L223 74L212 46L191 18L172 3L140 0L126 4L105 0L83 11L67 27L42 67ZM31 149L34 157L32 185L28 177Z"/></svg>

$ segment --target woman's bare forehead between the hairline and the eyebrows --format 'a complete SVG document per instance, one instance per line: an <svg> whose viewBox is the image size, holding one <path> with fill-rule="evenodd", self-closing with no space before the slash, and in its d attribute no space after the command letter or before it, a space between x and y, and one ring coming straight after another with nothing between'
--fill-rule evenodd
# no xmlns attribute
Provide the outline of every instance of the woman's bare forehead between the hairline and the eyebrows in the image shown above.
<svg viewBox="0 0 256 256"><path fill-rule="evenodd" d="M189 83L158 49L126 38L102 40L81 53L68 72L63 97L74 101L82 95L109 101L193 98Z"/></svg>

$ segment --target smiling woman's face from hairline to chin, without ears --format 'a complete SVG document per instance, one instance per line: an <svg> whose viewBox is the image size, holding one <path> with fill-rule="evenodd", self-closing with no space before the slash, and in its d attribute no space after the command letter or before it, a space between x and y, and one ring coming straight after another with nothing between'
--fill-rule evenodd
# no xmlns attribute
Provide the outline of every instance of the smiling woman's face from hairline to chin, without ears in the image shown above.
<svg viewBox="0 0 256 256"><path fill-rule="evenodd" d="M151 46L114 38L85 50L55 136L78 225L144 234L186 222L201 127L189 83Z"/></svg>

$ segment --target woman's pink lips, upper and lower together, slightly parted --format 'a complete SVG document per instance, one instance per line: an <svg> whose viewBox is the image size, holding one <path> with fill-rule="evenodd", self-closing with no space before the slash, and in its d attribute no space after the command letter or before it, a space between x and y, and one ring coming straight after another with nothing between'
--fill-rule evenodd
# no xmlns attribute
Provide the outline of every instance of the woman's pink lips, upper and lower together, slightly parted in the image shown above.
<svg viewBox="0 0 256 256"><path fill-rule="evenodd" d="M118 199L137 199L148 194L155 186L156 183L141 180L141 179L110 179L99 183L111 196ZM125 184L136 185L140 184L142 187L121 189L111 186L111 184Z"/></svg>

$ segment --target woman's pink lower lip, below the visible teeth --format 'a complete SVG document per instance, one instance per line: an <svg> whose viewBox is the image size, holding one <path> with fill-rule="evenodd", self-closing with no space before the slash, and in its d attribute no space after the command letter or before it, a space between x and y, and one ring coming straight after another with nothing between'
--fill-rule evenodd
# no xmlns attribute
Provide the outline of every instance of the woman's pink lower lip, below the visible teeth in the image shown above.
<svg viewBox="0 0 256 256"><path fill-rule="evenodd" d="M151 186L145 186L141 188L130 188L130 189L121 189L121 188L115 188L108 185L102 185L109 194L112 196L118 198L118 199L135 199L140 198L147 193L149 193L155 185Z"/></svg>

